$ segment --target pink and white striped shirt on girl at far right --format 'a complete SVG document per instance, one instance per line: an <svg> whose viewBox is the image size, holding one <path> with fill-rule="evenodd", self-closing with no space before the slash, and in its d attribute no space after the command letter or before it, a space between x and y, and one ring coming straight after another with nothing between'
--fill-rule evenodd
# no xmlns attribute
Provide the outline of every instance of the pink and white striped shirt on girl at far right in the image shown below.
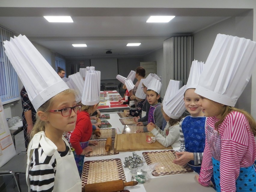
<svg viewBox="0 0 256 192"><path fill-rule="evenodd" d="M212 157L220 161L220 185L223 192L236 191L240 167L252 166L256 159L256 142L244 114L231 111L218 126L215 117L206 121L206 144L199 182L209 186L213 174Z"/></svg>

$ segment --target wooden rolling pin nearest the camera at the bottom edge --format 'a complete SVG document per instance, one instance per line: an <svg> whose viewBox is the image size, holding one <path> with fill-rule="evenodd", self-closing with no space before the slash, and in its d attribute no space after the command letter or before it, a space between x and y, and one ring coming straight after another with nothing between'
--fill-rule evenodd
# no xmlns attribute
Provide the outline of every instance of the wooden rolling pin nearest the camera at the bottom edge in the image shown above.
<svg viewBox="0 0 256 192"><path fill-rule="evenodd" d="M123 180L106 181L102 183L92 183L84 185L83 192L116 192L121 191L124 187L135 186L137 181L123 182Z"/></svg>

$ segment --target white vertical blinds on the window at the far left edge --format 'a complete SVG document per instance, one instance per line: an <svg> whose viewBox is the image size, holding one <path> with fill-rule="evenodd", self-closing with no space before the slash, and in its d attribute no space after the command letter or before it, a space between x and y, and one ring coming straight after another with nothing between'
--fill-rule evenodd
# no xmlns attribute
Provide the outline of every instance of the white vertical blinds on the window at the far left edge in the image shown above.
<svg viewBox="0 0 256 192"><path fill-rule="evenodd" d="M20 99L17 73L5 55L3 47L3 41L9 41L11 37L13 33L0 26L0 98L2 104Z"/></svg>

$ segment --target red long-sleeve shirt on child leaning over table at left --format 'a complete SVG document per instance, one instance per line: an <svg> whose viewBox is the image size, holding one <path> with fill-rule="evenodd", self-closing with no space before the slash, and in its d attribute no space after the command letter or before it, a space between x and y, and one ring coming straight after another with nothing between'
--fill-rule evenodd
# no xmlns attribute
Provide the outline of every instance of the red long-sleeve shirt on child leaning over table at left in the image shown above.
<svg viewBox="0 0 256 192"><path fill-rule="evenodd" d="M77 114L77 120L75 123L75 130L71 133L70 143L75 149L76 154L80 155L83 149L80 146L80 142L89 141L92 135L92 123L90 115L86 111L81 111Z"/></svg>

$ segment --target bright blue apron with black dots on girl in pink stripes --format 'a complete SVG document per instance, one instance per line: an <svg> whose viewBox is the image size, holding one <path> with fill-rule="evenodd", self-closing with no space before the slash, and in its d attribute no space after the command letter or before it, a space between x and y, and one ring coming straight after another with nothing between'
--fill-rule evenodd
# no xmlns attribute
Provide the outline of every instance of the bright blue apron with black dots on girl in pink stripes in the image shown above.
<svg viewBox="0 0 256 192"><path fill-rule="evenodd" d="M220 161L212 157L213 175L216 191L221 192L220 186ZM254 166L241 167L236 179L236 192L256 191L256 173Z"/></svg>

